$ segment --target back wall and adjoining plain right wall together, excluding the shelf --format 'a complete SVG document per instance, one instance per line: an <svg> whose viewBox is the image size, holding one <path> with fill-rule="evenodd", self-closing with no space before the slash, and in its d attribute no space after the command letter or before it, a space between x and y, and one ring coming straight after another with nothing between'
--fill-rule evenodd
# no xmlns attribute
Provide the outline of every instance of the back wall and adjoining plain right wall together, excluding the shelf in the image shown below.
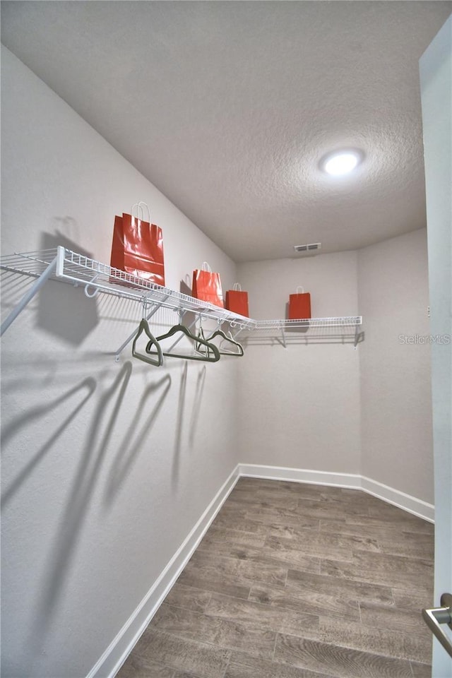
<svg viewBox="0 0 452 678"><path fill-rule="evenodd" d="M426 231L355 252L244 263L237 278L252 317L284 318L303 285L313 317L361 314L365 334L356 351L313 341L246 352L241 461L359 474L433 503Z"/></svg>

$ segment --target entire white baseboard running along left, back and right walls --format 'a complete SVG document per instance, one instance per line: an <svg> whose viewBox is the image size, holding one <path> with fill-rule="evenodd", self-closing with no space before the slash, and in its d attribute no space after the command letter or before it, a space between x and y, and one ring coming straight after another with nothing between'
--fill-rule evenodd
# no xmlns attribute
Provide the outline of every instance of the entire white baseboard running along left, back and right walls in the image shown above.
<svg viewBox="0 0 452 678"><path fill-rule="evenodd" d="M319 485L333 485L351 489L361 489L368 494L398 506L404 511L414 513L415 516L434 523L434 506L422 499L400 492L398 489L384 485L371 478L354 473L335 473L329 471L315 471L305 468L284 468L282 466L266 466L260 464L238 464L230 477L220 488L214 499L208 505L201 518L186 537L182 545L162 571L157 581L145 595L140 605L131 614L131 617L109 644L102 657L96 662L86 678L112 678L128 657L133 646L143 634L146 626L162 604L186 563L196 550L199 542L208 530L213 519L220 511L239 477L264 478L266 480L289 480L291 482L305 482Z"/></svg>

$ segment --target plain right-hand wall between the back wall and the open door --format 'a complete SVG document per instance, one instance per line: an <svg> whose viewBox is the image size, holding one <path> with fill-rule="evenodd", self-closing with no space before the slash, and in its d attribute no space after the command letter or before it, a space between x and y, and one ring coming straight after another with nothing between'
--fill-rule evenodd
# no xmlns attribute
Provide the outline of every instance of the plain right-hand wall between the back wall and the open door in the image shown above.
<svg viewBox="0 0 452 678"><path fill-rule="evenodd" d="M427 234L359 250L362 475L433 502Z"/></svg>

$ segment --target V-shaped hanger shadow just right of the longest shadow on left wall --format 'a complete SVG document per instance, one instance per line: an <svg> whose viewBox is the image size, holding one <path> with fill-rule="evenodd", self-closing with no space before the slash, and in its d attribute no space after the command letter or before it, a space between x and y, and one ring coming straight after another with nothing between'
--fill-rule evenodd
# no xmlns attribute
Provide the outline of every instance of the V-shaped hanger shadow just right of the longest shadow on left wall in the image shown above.
<svg viewBox="0 0 452 678"><path fill-rule="evenodd" d="M112 504L121 484L124 483L127 475L131 472L133 461L140 451L146 437L150 434L170 387L171 376L166 374L162 379L150 383L145 388L133 420L118 444L117 456L113 461L112 470L109 473L107 490L105 492L105 504L107 506ZM162 391L160 396L158 396L153 408L150 410L150 414L143 422L143 411L148 412L150 407L148 400L159 391Z"/></svg>

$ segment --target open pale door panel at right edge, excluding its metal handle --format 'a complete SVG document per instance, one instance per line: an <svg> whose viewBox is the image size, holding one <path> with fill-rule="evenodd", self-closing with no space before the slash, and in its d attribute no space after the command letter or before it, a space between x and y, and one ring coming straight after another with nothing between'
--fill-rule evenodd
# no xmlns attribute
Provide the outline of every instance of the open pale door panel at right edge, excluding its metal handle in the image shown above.
<svg viewBox="0 0 452 678"><path fill-rule="evenodd" d="M432 607L452 591L452 17L420 59L424 129L435 494L435 590ZM445 339L448 339L446 343ZM451 631L442 624L452 641ZM434 641L432 675L452 675L452 658Z"/></svg>

